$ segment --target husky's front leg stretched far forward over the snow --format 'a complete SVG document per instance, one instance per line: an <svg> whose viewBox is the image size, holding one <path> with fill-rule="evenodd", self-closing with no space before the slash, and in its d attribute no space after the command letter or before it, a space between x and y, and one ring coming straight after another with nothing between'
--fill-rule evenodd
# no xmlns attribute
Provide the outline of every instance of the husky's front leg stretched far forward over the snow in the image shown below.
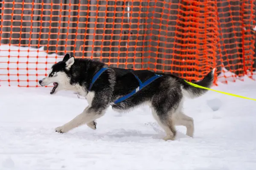
<svg viewBox="0 0 256 170"><path fill-rule="evenodd" d="M67 131L72 130L73 128L79 127L81 125L84 125L84 124L88 125L89 123L94 122L94 120L102 117L104 114L105 114L105 109L103 108L96 108L96 107L85 108L81 114L76 116L70 122L67 122L64 125L57 127L55 131L59 133L66 133Z"/></svg>

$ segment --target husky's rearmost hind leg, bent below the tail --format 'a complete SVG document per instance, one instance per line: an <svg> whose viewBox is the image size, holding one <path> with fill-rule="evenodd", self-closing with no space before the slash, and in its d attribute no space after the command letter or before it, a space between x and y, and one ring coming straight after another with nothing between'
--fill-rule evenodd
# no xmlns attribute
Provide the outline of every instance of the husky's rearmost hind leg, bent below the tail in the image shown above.
<svg viewBox="0 0 256 170"><path fill-rule="evenodd" d="M192 117L186 116L183 112L178 112L173 115L175 125L186 127L186 135L193 137L194 135L194 120Z"/></svg>

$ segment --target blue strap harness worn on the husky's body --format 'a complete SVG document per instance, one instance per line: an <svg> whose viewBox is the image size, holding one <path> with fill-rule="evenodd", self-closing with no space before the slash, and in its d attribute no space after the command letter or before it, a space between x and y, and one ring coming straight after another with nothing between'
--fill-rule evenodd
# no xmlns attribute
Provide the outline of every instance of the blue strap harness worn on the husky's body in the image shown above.
<svg viewBox="0 0 256 170"><path fill-rule="evenodd" d="M100 77L100 75L107 70L108 68L102 68L100 69L94 76L92 79L92 82L90 84L90 87L88 89L88 91L91 90L91 88L93 87L94 82ZM132 72L131 72L132 73ZM132 73L133 74L133 73ZM139 77L137 77L135 74L133 74L134 77L138 80L139 82L139 86L134 89L131 93L126 94L125 96L120 97L119 99L114 101L114 104L118 104L122 101L124 101L125 99L128 99L129 97L131 97L132 95L136 94L138 91L140 91L141 89L143 89L145 86L149 85L151 82L153 82L155 79L157 79L158 77L161 77L162 75L159 74L155 74L154 76L150 77L149 79L147 79L145 82L141 82Z"/></svg>

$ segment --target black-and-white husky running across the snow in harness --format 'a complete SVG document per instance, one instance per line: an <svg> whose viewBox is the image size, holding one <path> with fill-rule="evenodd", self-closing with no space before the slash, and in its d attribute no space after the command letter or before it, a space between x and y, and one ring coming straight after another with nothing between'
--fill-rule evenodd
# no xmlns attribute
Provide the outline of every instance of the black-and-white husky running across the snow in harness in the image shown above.
<svg viewBox="0 0 256 170"><path fill-rule="evenodd" d="M90 90L94 75L102 68L108 68L96 79ZM214 79L215 68L201 81L195 82L210 88ZM84 96L88 106L81 114L70 122L57 127L56 132L66 133L73 128L86 124L96 129L96 119L102 117L111 105L116 111L128 111L142 104L148 104L154 119L165 130L164 140L174 140L176 136L175 125L186 127L186 135L193 136L194 121L182 111L184 97L195 98L207 92L205 89L195 88L184 79L172 74L157 73L161 76L146 85L134 95L122 102L114 101L134 91L141 82L146 81L155 73L147 70L133 71L131 69L108 67L102 62L91 59L75 59L66 54L64 59L54 65L49 75L39 81L41 86L53 83L50 94L61 90L75 91Z"/></svg>

